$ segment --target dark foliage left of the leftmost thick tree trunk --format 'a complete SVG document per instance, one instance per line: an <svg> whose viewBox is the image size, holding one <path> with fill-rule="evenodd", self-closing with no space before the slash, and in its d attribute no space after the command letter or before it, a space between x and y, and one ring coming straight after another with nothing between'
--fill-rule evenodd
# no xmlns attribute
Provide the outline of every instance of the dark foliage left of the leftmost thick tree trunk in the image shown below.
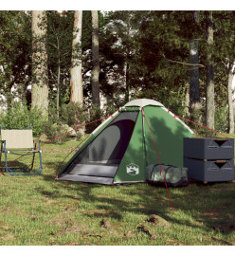
<svg viewBox="0 0 235 256"><path fill-rule="evenodd" d="M30 82L30 12L0 11L0 24L0 93L10 105L15 96L22 100L26 98ZM18 93L19 89L23 93Z"/></svg>

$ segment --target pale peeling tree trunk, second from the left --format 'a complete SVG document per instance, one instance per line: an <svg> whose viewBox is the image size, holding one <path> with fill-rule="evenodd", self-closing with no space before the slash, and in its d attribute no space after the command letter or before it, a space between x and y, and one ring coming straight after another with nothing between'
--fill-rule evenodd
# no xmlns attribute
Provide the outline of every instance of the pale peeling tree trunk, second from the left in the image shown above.
<svg viewBox="0 0 235 256"><path fill-rule="evenodd" d="M82 76L81 76L81 24L82 10L74 11L74 31L72 42L72 60L70 69L70 102L83 106ZM80 50L78 52L78 46ZM79 54L79 56L78 56Z"/></svg>

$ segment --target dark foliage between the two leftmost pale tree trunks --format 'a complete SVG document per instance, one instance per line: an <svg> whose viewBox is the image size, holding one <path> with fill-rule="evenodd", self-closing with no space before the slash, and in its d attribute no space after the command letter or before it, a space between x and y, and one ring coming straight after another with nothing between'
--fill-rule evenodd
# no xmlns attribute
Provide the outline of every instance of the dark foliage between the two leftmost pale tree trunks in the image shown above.
<svg viewBox="0 0 235 256"><path fill-rule="evenodd" d="M72 56L73 11L47 11L47 52L50 99L69 101L69 69ZM59 82L59 84L58 84Z"/></svg>

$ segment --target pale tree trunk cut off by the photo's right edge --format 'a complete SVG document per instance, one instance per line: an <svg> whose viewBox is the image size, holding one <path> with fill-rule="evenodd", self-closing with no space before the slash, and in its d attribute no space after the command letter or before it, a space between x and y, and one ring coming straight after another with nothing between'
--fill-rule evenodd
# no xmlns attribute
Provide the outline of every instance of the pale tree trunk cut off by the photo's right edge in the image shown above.
<svg viewBox="0 0 235 256"><path fill-rule="evenodd" d="M232 66L228 72L227 82L227 103L228 103L228 122L229 122L229 134L234 134L234 111L232 103L232 80L233 80Z"/></svg>

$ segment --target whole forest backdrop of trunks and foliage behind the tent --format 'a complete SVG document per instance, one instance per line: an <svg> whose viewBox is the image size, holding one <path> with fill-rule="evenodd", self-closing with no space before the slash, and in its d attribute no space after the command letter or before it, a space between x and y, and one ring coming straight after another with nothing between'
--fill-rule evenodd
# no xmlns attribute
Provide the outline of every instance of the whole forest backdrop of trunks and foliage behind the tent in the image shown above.
<svg viewBox="0 0 235 256"><path fill-rule="evenodd" d="M147 98L234 134L234 46L233 10L1 10L0 124L50 138Z"/></svg>

